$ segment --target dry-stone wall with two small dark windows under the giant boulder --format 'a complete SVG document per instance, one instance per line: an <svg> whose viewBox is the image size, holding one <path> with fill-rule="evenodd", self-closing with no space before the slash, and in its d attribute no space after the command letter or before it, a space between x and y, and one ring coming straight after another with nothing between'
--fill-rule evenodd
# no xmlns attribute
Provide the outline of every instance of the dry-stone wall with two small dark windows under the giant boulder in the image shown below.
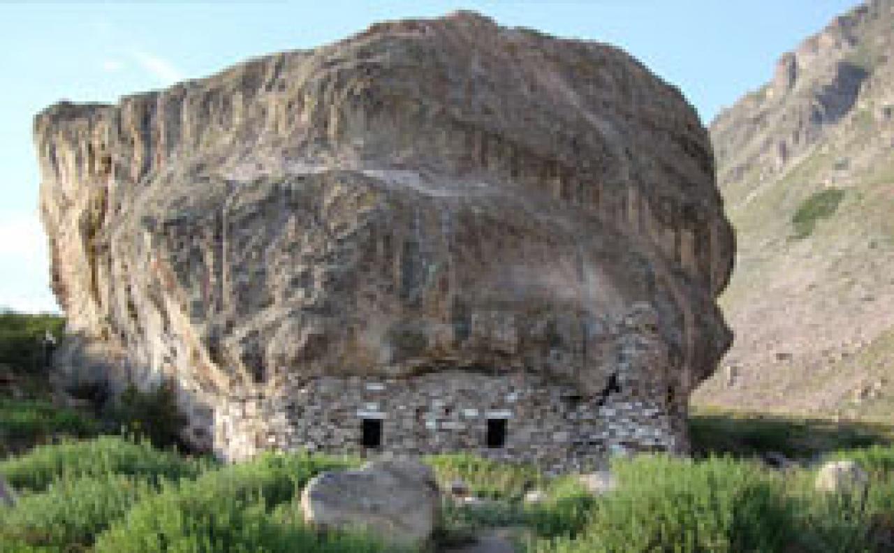
<svg viewBox="0 0 894 553"><path fill-rule="evenodd" d="M685 448L679 411L616 383L593 398L524 371L437 371L407 379L321 378L287 394L233 397L215 417L215 453L230 461L265 449L424 455L472 451L552 472L587 470L621 451ZM647 397L646 397L647 396ZM361 421L382 421L365 451ZM488 448L488 419L506 419L505 446Z"/></svg>

